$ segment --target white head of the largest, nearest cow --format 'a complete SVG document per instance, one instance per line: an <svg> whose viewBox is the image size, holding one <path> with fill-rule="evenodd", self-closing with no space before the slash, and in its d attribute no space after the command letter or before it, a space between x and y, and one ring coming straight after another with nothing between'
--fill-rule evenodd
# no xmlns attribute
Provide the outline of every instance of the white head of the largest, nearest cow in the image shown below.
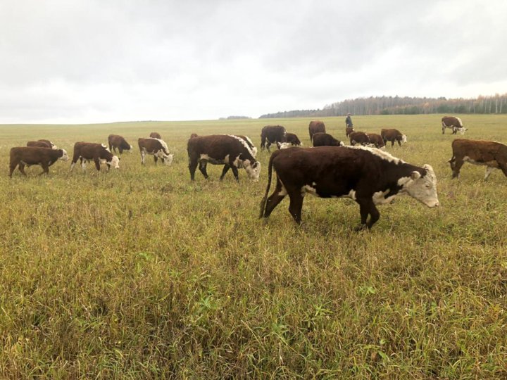
<svg viewBox="0 0 507 380"><path fill-rule="evenodd" d="M409 196L424 203L430 208L440 205L437 195L437 176L435 176L433 168L430 165L423 166L427 174L421 177L420 172L412 172L411 177L399 179L398 183L402 184L402 191Z"/></svg>

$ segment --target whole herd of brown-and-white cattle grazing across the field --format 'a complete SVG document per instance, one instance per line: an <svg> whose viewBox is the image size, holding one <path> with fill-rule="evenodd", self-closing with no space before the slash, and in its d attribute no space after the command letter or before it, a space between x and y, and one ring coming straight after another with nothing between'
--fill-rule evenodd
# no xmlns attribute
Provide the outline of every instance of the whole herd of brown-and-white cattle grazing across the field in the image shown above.
<svg viewBox="0 0 507 380"><path fill-rule="evenodd" d="M455 117L442 118L442 133L451 128L452 133L461 132L465 127ZM356 132L346 127L346 137L350 146L345 146L327 134L323 122L313 120L308 125L312 148L303 148L296 134L289 133L280 125L263 127L261 131L261 150L270 151L275 144L278 148L271 154L268 164L268 185L261 202L261 217L269 217L274 208L285 196L289 196L289 213L297 223L301 222L303 198L312 194L323 198L351 198L359 204L361 224L358 229L371 228L380 217L376 205L389 203L401 194L408 194L430 208L437 207L437 177L431 165L422 167L405 163L384 151L385 144L391 141L400 146L407 141L406 136L397 129L382 129L380 134ZM165 165L173 161L173 154L160 134L152 132L150 137L139 138L139 152L144 165L146 154L158 158ZM359 145L359 146L356 146ZM118 169L120 158L118 151L132 152L132 146L117 135L108 137L108 147L104 144L77 142L74 145L70 170L77 160L84 170L86 164L94 161L96 170L101 163ZM455 139L452 143L453 156L449 160L453 178L458 177L463 163L485 165L484 179L492 169L500 169L507 176L507 146L494 141ZM247 175L258 181L261 163L256 160L257 148L249 137L233 134L198 136L192 134L187 143L190 179L194 180L196 168L208 178L206 165L224 165L220 180L229 169L239 181L238 169L244 168ZM59 149L49 140L28 141L27 146L11 148L9 177L15 167L23 175L25 166L40 165L43 172L49 172L49 166L56 160L68 160L64 149ZM275 190L270 196L273 170L276 173ZM368 219L369 216L369 219Z"/></svg>

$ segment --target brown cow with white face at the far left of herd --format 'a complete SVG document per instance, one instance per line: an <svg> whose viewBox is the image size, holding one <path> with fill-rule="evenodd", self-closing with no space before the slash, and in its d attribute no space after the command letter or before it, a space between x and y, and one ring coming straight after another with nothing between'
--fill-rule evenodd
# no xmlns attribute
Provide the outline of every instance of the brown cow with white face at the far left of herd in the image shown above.
<svg viewBox="0 0 507 380"><path fill-rule="evenodd" d="M11 148L11 160L9 163L9 177L16 166L22 175L26 176L25 165L41 165L42 173L49 174L49 167L56 163L56 160L68 160L65 149L41 148L39 146L18 146Z"/></svg>

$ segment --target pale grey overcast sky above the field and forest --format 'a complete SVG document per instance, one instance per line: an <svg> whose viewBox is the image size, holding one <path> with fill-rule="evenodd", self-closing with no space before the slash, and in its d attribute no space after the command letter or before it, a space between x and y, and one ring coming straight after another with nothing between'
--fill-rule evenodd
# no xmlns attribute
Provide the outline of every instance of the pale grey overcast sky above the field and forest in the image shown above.
<svg viewBox="0 0 507 380"><path fill-rule="evenodd" d="M506 17L506 0L0 0L0 122L503 94Z"/></svg>

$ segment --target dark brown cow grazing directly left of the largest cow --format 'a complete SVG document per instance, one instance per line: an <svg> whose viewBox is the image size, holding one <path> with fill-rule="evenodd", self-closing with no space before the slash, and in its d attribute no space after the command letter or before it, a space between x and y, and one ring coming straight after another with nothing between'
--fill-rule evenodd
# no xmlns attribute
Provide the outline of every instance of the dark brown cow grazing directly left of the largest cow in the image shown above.
<svg viewBox="0 0 507 380"><path fill-rule="evenodd" d="M261 172L261 163L256 161L253 152L241 137L232 134L212 134L209 136L198 136L189 139L187 143L189 155L190 179L194 181L195 170L199 170L208 179L206 165L225 165L220 175L220 181L225 174L232 170L234 178L239 182L238 168L244 167L246 173L253 181L257 182Z"/></svg>

